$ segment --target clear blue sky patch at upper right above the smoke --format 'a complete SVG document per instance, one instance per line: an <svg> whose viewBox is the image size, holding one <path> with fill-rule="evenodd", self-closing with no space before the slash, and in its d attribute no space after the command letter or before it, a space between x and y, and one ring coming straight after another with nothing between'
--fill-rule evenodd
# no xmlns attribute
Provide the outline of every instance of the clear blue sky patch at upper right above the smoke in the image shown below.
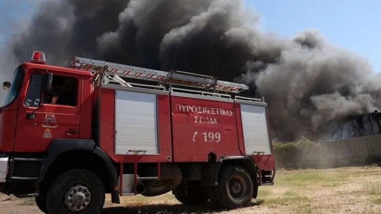
<svg viewBox="0 0 381 214"><path fill-rule="evenodd" d="M369 60L381 71L381 0L246 0L262 32L293 38L318 29L332 44Z"/></svg>

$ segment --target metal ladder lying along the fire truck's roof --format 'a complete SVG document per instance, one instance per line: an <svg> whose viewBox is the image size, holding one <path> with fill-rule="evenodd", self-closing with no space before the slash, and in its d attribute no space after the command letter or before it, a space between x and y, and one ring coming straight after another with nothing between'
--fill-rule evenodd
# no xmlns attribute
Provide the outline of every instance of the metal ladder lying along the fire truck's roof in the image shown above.
<svg viewBox="0 0 381 214"><path fill-rule="evenodd" d="M106 62L95 59L74 57L71 65L80 70L86 70L93 73L105 73L106 78L122 81L123 86L131 87L120 77L150 80L162 84L182 85L188 87L202 88L204 90L213 89L216 91L239 93L249 89L245 84L221 81L211 76L188 73L183 71L159 71L148 68L122 65L112 62Z"/></svg>

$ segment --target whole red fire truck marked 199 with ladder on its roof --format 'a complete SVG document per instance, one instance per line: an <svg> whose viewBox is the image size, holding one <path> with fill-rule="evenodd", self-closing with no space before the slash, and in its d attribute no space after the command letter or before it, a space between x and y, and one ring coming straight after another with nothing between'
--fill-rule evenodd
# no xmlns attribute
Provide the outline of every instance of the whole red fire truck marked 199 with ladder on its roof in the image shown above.
<svg viewBox="0 0 381 214"><path fill-rule="evenodd" d="M105 194L248 205L273 185L267 104L248 86L181 71L34 52L0 109L0 192L45 213L100 213ZM235 96L234 96L235 95Z"/></svg>

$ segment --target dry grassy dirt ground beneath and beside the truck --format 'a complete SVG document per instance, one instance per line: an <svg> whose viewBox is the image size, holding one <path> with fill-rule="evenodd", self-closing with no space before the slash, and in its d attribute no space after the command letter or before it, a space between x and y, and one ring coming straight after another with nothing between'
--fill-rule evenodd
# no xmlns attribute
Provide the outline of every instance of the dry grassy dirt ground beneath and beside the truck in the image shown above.
<svg viewBox="0 0 381 214"><path fill-rule="evenodd" d="M210 203L187 207L170 193L157 197L127 196L120 205L106 196L103 214L268 214L381 213L381 167L326 170L280 170L274 186L259 187L250 207L215 210ZM33 198L0 195L0 214L42 214Z"/></svg>

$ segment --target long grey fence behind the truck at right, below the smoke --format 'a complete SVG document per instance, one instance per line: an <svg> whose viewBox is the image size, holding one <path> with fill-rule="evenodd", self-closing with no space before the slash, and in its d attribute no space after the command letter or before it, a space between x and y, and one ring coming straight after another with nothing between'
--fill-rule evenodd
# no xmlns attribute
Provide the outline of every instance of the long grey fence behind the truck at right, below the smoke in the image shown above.
<svg viewBox="0 0 381 214"><path fill-rule="evenodd" d="M380 162L381 135L328 141L304 148L275 149L280 168L332 168Z"/></svg>

